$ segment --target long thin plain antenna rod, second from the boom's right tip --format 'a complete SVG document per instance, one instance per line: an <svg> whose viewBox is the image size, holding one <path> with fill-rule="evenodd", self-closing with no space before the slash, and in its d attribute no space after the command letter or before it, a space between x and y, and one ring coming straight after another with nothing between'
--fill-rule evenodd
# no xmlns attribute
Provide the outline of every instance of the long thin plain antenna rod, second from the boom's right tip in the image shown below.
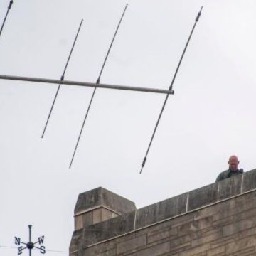
<svg viewBox="0 0 256 256"><path fill-rule="evenodd" d="M107 55L106 55L105 60L104 60L104 62L103 62L103 64L102 64L102 68L101 68L101 70L100 70L100 74L99 74L99 76L98 76L98 78L97 78L96 85L99 85L99 84L100 84L100 78L101 78L102 72L103 72L103 70L104 70L104 68L105 68L105 64L106 64L106 62L107 62L108 55L110 54L110 50L111 50L112 45L113 45L113 43L114 43L114 38L117 36L117 31L118 31L119 26L120 26L120 24L121 24L121 22L122 22L122 18L124 17L124 14L125 14L125 11L126 11L126 9L127 9L127 6L128 6L128 4L126 4L126 6L124 7L124 11L123 11L122 16L121 16L121 18L120 18L120 21L119 21L119 23L118 23L117 29L116 29L116 31L114 32L114 36L113 36L112 41L111 41L111 43L110 43L110 47L109 47L109 49L107 50ZM71 161L70 161L70 166L69 166L69 168L71 168L71 166L72 166L72 163L73 163L73 160L74 160L74 157L75 157L75 152L76 152L77 149L78 149L78 144L79 144L79 142L80 142L80 137L81 137L81 135L82 135L82 130L83 130L84 126L85 126L85 122L86 122L88 113L89 113L89 111L90 111L90 107L91 107L91 105L92 105L92 100L93 100L93 98L95 97L95 92L96 92L96 90L97 90L97 86L95 87L95 89L94 89L93 92L92 92L92 97L90 98L90 102L89 102L89 105L88 105L88 107L87 107L87 111L86 111L86 114L85 114L85 118L84 118L84 120L83 120L83 122L82 122L82 127L81 127L81 129L80 129L80 134L79 134L79 136L78 136L78 141L77 141L77 143L76 143L76 145L75 145L75 150L74 150L74 152L73 152L73 156L72 156L72 159L71 159Z"/></svg>

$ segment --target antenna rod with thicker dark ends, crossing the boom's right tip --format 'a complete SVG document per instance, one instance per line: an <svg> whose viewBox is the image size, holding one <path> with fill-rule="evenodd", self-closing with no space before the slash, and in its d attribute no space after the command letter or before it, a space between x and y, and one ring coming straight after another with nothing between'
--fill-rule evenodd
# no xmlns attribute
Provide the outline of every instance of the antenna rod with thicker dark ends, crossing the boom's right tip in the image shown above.
<svg viewBox="0 0 256 256"><path fill-rule="evenodd" d="M186 46L185 46L185 48L184 48L184 50L183 50L183 53L182 53L182 55L181 55L181 59L180 59L179 62L178 62L178 66L177 66L176 71L175 71L175 73L174 73L174 77L173 77L173 79L171 80L171 85L170 85L170 87L169 87L169 90L173 90L173 85L174 85L174 81L175 81L176 75L178 74L178 69L180 68L181 62L182 62L182 60L183 60L183 56L184 56L185 53L186 53L186 49L187 49L187 47L188 47L189 41L191 40L191 36L192 36L192 34L193 34L193 31L194 31L194 29L196 28L196 23L198 22L198 20L199 20L199 18L200 18L200 16L201 16L201 11L202 11L202 9L203 9L203 6L201 7L200 11L198 12L198 14L197 14L197 16L196 16L196 20L195 20L195 23L194 23L194 25L193 25L192 31L191 31L191 33L190 33L190 35L189 35L189 37L188 37L188 41L186 42ZM161 119L161 115L162 115L163 112L164 112L164 107L166 106L166 102L167 102L168 98L169 98L169 95L166 95L166 98L165 98L165 100L164 100L164 104L163 104L163 106L161 107L161 112L160 112L160 114L159 114L159 118L157 119L156 125L155 125L155 127L154 127L154 132L153 132L153 134L152 134L152 136L151 136L151 139L150 139L150 142L149 142L149 146L148 146L148 148L147 148L147 150L146 150L146 155L144 156L144 159L143 159L143 161L142 161L142 169L144 168L144 166L145 166L145 164L146 164L146 157L147 157L147 155L149 154L149 149L150 149L151 144L152 144L152 142L153 142L154 135L156 134L156 129L157 129L158 125L159 125L159 122L160 122L160 119ZM142 169L140 170L139 174L142 174Z"/></svg>

